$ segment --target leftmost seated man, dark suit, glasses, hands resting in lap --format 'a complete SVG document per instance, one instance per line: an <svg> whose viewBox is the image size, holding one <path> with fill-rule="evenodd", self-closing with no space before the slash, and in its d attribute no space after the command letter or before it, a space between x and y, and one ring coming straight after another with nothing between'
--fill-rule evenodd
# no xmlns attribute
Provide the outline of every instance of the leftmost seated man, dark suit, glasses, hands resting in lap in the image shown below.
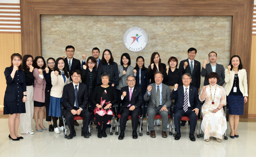
<svg viewBox="0 0 256 157"><path fill-rule="evenodd" d="M88 103L88 89L86 84L79 83L81 80L81 71L72 71L71 78L73 83L65 85L62 94L64 105L63 115L65 116L66 123L70 129L70 134L68 135L67 139L72 139L76 136L73 120L75 115L79 115L84 119L81 136L84 136L84 138L89 138L87 130L91 121L91 113L86 110L86 105Z"/></svg>

